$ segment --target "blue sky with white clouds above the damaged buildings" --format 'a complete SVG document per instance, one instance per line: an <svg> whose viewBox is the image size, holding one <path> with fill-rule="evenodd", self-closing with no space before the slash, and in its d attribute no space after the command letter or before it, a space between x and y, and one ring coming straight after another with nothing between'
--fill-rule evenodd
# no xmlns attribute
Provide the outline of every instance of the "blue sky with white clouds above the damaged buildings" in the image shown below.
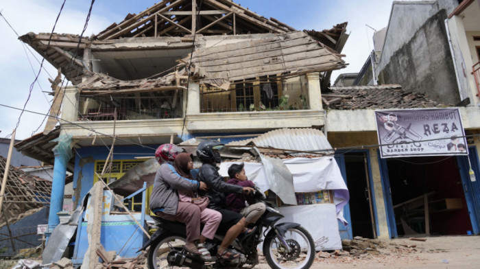
<svg viewBox="0 0 480 269"><path fill-rule="evenodd" d="M97 0L84 36L91 36L108 25L122 21L130 13L149 8L160 0ZM22 36L28 32L49 33L55 24L64 0L2 1L0 12L13 29ZM243 7L265 16L273 17L297 30L330 29L338 23L348 22L350 37L341 51L349 64L334 71L332 82L340 73L357 73L373 49L374 30L387 27L392 0L235 0ZM90 0L67 0L56 24L56 33L80 34L84 28ZM0 104L47 114L53 97L48 78L56 76L56 69L45 60L38 81L33 84L40 69L42 57L23 44L15 32L0 17ZM31 95L29 97L29 93ZM27 102L28 100L28 102ZM42 132L45 116L0 106L0 137L10 137L16 130L16 139L26 139ZM61 117L61 115L60 115Z"/></svg>

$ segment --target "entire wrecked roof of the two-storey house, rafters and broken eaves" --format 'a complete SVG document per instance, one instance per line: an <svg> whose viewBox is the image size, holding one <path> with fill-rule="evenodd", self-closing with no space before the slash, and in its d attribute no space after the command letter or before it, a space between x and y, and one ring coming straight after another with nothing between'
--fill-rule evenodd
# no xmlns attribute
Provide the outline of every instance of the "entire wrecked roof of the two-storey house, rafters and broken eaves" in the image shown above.
<svg viewBox="0 0 480 269"><path fill-rule="evenodd" d="M166 68L160 69L165 67L167 62L172 65L173 60L183 58L191 50L193 34L196 34L193 56L200 56L200 49L208 47L207 43L210 37L219 40L226 40L230 37L253 39L254 46L252 48L244 47L244 51L247 53L256 53L252 49L258 49L259 46L265 45L272 47L276 43L277 48L274 51L262 51L266 57L271 56L272 59L265 60L262 56L259 60L263 62L257 62L246 69L259 67L259 64L263 66L282 65L283 62L290 64L290 69L296 69L297 66L292 66L294 60L296 60L295 57L304 57L299 56L299 54L307 52L304 49L313 47L313 53L315 54L313 57L320 55L327 57L322 59L324 61L322 68L318 68L318 62L315 62L313 66L307 62L307 67L303 67L304 71L326 71L325 77L329 77L328 72L343 68L346 65L339 59L339 55L337 55L337 58L328 56L330 53L339 53L343 48L348 37L348 34L345 34L346 25L347 23L340 23L334 25L331 30L323 30L322 32L310 30L301 33L285 23L281 23L274 18L267 19L230 0L164 0L139 14L128 14L120 23L113 23L106 30L91 38L74 34L28 33L21 36L20 39L33 47L51 65L57 69L60 68L67 79L75 85L80 84L82 78L88 78L90 76L88 71L93 71L94 67L98 65L115 67L117 73L120 69L125 71L125 67L122 67L122 65L128 65L128 73L130 74L125 75L125 78L121 78L121 80L135 80L152 75L151 73L145 75L145 73L148 73L145 70L164 71ZM295 45L292 43L293 38L302 40L297 40L299 44ZM305 42L305 40L307 41ZM314 45L315 40L317 43ZM216 42L211 40L208 44L211 45ZM248 40L245 42L248 42ZM283 49L278 48L280 45ZM149 54L133 52L139 49L149 51ZM166 49L169 51L175 49L175 52L169 52L167 54L169 57L158 52ZM235 45L228 46L227 49L235 49ZM299 49L298 54L291 53L295 49ZM215 49L206 49L204 53L211 54L213 50ZM115 57L113 56L114 51L116 53ZM269 54L269 52L272 52L272 54ZM215 53L217 53L217 56L224 56L221 51L215 51ZM128 56L124 54L128 54ZM139 57L139 55L144 55L143 57L147 57L150 61L152 61L152 58L158 58L158 60L145 65L145 61L141 62L141 59L132 60L128 58ZM205 54L202 55L203 58L204 56ZM289 59L283 59L284 57L289 57ZM91 60L94 60L94 62ZM239 56L235 60L245 60L245 55ZM305 63L306 59L302 60ZM200 67L202 58L197 58L196 61L197 67ZM188 60L184 59L183 62L188 62ZM339 65L328 65L333 62L337 62ZM221 63L217 68L228 69L231 67L228 64L236 63ZM145 67L142 65L145 65ZM196 70L208 71L204 62L202 62L202 65L204 65L202 68ZM236 67L239 68L238 65ZM213 67L210 68L213 69ZM243 69L244 67L240 68ZM99 71L98 67L95 70ZM100 70L102 73L108 73L112 77L119 78L112 75L112 73L115 73L114 70L105 69L103 66ZM277 69L276 71L283 73L285 70ZM134 73L139 74L135 75ZM144 76L141 76L142 74ZM235 79L239 76L245 77L245 75L248 74L231 75L231 77ZM222 75L222 79L226 77L230 77L230 75ZM256 77L256 74L254 77ZM206 76L202 79L216 78ZM170 85L170 83L167 82L165 85Z"/></svg>

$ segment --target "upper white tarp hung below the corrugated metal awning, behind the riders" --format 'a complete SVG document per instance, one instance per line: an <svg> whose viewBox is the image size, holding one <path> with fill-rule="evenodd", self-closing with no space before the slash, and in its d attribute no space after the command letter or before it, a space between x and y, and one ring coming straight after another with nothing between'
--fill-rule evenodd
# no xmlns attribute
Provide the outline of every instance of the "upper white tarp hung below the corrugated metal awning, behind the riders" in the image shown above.
<svg viewBox="0 0 480 269"><path fill-rule="evenodd" d="M220 164L219 173L221 176L228 176L228 167L232 163L225 162ZM284 159L283 163L287 166L293 176L293 192L313 192L330 189L333 191L333 202L337 211L337 218L346 224L343 217L343 208L348 202L350 195L341 177L340 169L331 156L319 158L293 158ZM262 191L270 189L267 180L265 167L262 163L245 162L245 173L249 180L252 180ZM308 205L310 206L310 205Z"/></svg>

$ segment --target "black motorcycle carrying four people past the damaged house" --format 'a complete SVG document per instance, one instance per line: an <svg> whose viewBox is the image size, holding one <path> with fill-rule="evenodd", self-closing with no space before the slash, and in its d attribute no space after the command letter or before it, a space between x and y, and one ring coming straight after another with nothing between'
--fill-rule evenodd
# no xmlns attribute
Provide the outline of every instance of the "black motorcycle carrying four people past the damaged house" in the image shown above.
<svg viewBox="0 0 480 269"><path fill-rule="evenodd" d="M238 259L232 261L215 260L217 248L223 237L215 235L206 241L206 248L213 257L212 261L204 261L184 250L186 238L185 225L154 217L157 231L141 248L148 250L148 268L160 269L171 266L205 268L253 268L259 264L257 246L263 242L263 255L274 269L308 269L315 259L315 243L310 233L300 224L283 222L276 224L284 215L276 207L266 201L265 194L257 189L254 197L264 202L265 213L253 225L251 233L239 236L230 246L230 251L240 253ZM243 267L245 266L245 267Z"/></svg>

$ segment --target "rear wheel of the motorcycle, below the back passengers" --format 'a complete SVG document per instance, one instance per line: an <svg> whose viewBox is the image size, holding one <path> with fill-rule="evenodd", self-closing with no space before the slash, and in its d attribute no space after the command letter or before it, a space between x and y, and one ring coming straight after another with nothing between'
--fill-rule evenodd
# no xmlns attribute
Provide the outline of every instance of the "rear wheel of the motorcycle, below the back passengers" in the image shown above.
<svg viewBox="0 0 480 269"><path fill-rule="evenodd" d="M148 268L161 269L171 267L167 261L167 255L171 250L181 250L186 242L179 235L160 235L160 239L152 244L148 250Z"/></svg>

